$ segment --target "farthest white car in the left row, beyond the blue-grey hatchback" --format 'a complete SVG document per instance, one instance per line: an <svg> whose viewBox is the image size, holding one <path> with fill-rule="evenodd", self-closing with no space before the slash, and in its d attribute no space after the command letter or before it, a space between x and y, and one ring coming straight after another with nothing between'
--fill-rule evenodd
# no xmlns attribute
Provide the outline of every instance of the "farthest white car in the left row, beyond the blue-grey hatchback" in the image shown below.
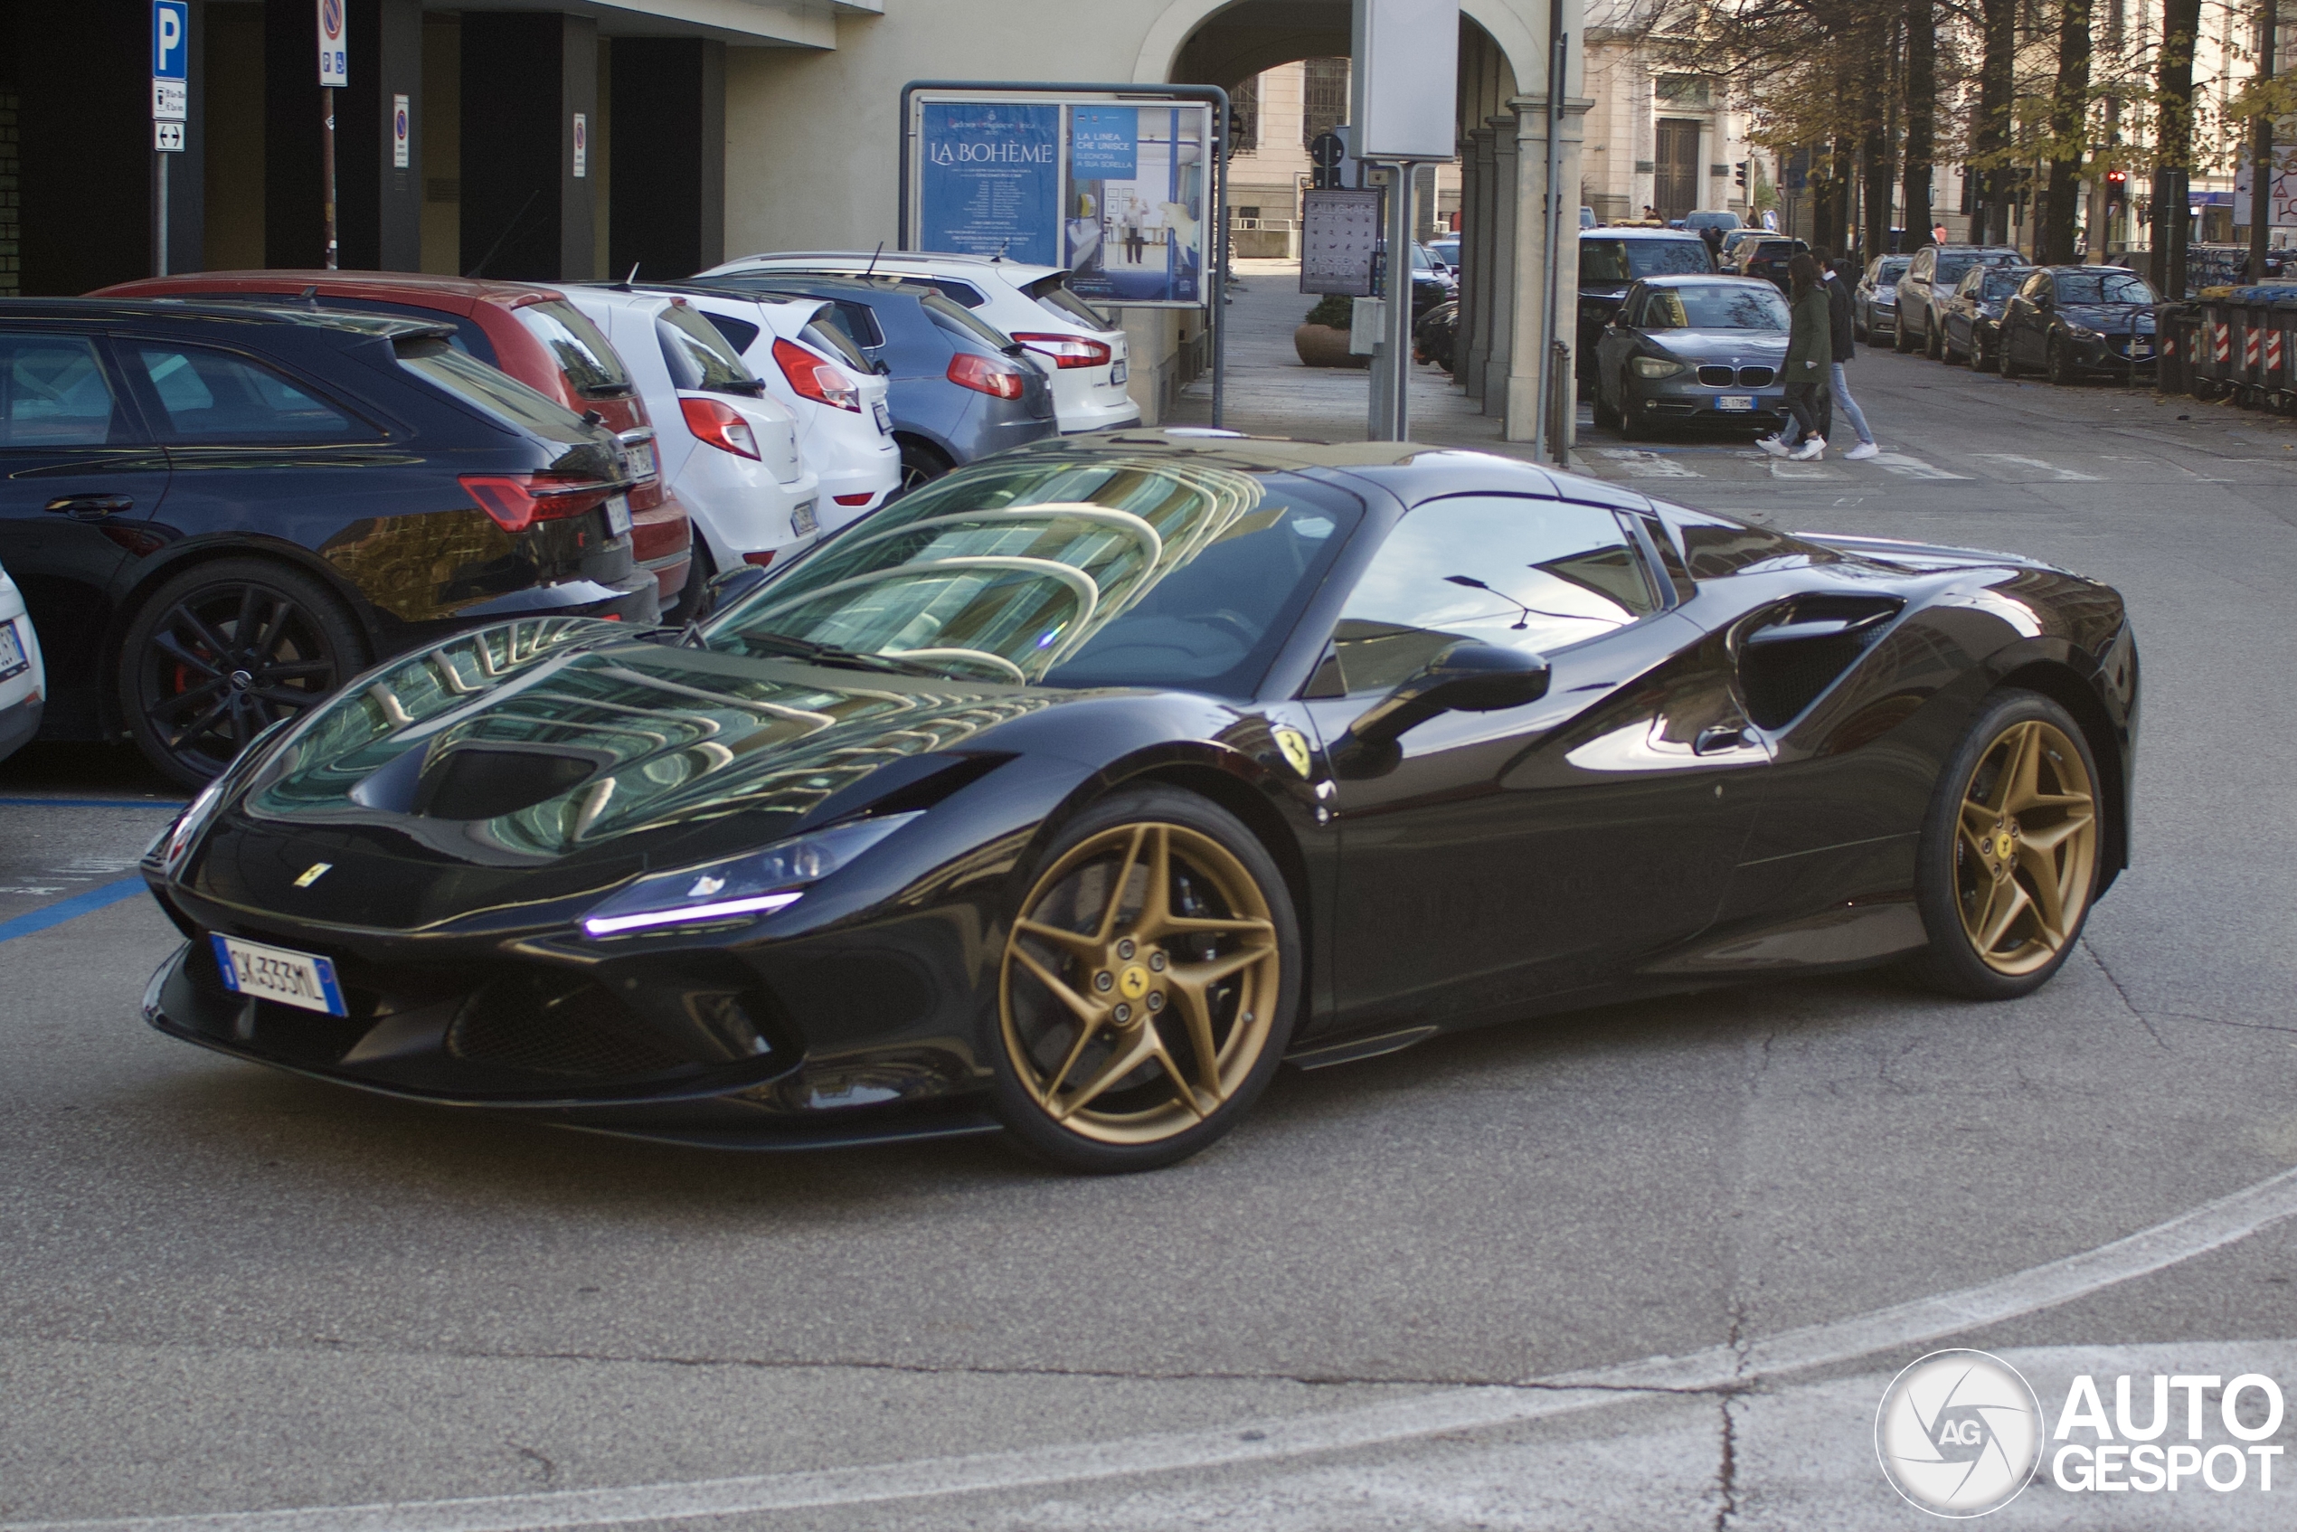
<svg viewBox="0 0 2297 1532"><path fill-rule="evenodd" d="M1068 271L1061 266L1024 266L1011 260L917 250L884 255L781 250L744 255L712 266L703 276L772 271L815 276L861 276L866 271L896 283L933 287L1036 354L1038 365L1052 379L1052 407L1064 432L1100 432L1142 423L1142 407L1126 393L1126 333L1068 289Z"/></svg>

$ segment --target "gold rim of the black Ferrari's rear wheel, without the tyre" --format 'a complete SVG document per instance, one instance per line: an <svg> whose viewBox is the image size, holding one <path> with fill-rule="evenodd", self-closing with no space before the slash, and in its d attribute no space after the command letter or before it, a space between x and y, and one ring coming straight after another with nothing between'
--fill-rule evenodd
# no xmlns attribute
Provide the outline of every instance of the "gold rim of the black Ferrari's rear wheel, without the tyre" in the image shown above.
<svg viewBox="0 0 2297 1532"><path fill-rule="evenodd" d="M1996 974L2049 967L2097 880L2097 804L2072 737L2019 719L1978 756L1962 790L1955 907L1971 951Z"/></svg>

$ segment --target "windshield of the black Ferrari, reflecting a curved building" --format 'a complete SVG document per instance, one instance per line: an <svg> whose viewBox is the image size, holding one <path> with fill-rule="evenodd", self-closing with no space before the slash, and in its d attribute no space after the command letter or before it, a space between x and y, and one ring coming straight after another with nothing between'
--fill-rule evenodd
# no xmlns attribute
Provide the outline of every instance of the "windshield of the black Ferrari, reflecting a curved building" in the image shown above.
<svg viewBox="0 0 2297 1532"><path fill-rule="evenodd" d="M1096 455L962 469L857 521L703 643L1052 687L1245 696L1362 503L1286 473Z"/></svg>

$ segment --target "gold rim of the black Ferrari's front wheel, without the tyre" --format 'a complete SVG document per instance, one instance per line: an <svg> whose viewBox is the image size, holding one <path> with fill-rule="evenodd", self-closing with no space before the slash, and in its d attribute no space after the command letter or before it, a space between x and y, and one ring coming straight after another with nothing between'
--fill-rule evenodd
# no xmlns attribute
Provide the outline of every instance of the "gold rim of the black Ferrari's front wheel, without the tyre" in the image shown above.
<svg viewBox="0 0 2297 1532"><path fill-rule="evenodd" d="M1282 999L1277 916L1211 834L1137 820L1068 848L1004 946L1006 1057L1036 1109L1098 1144L1148 1146L1229 1105Z"/></svg>

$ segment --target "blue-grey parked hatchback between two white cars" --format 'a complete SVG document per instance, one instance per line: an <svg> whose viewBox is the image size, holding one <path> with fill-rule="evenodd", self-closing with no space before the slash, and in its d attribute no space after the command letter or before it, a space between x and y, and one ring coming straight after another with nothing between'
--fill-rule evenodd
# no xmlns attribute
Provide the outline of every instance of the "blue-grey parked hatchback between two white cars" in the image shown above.
<svg viewBox="0 0 2297 1532"><path fill-rule="evenodd" d="M1061 432L1052 384L1029 349L928 287L795 271L712 276L696 287L836 303L845 335L887 377L903 492Z"/></svg>

